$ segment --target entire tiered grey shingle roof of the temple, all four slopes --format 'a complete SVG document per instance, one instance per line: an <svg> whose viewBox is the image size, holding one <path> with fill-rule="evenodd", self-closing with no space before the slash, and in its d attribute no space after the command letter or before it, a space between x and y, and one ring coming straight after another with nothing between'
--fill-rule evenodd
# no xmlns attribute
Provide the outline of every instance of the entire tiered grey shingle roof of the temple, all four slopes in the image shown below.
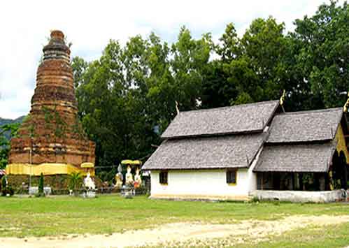
<svg viewBox="0 0 349 248"><path fill-rule="evenodd" d="M248 168L262 149L255 172L327 171L343 110L275 115L278 106L266 101L180 112L143 170Z"/></svg>

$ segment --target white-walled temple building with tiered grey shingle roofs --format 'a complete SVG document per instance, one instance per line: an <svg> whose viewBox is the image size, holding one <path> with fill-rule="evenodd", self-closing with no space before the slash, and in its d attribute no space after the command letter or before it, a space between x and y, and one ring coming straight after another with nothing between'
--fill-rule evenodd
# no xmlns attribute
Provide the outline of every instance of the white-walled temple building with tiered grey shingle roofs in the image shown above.
<svg viewBox="0 0 349 248"><path fill-rule="evenodd" d="M339 200L349 161L343 109L285 113L280 103L179 112L142 168L150 197Z"/></svg>

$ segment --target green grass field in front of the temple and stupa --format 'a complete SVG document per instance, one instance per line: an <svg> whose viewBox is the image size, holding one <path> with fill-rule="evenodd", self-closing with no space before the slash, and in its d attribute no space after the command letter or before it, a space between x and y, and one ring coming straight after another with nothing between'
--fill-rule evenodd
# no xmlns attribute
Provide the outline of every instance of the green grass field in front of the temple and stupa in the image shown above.
<svg viewBox="0 0 349 248"><path fill-rule="evenodd" d="M52 236L83 233L118 233L174 222L234 224L247 219L277 220L291 215L348 215L349 205L299 203L232 203L149 200L145 196L124 199L99 196L94 199L56 196L50 198L0 198L1 237ZM349 245L349 224L297 229L260 242L260 247L286 246L294 238L300 243L327 244L333 237ZM307 234L308 233L308 234ZM325 233L325 235L324 235ZM312 237L309 240L309 237ZM223 240L224 241L224 240ZM252 241L251 241L252 242ZM343 242L343 244L342 244ZM249 241L243 245L248 247ZM290 243L292 245L292 243ZM290 245L289 244L289 245ZM259 246L259 245L258 245ZM314 245L314 247L317 247Z"/></svg>

